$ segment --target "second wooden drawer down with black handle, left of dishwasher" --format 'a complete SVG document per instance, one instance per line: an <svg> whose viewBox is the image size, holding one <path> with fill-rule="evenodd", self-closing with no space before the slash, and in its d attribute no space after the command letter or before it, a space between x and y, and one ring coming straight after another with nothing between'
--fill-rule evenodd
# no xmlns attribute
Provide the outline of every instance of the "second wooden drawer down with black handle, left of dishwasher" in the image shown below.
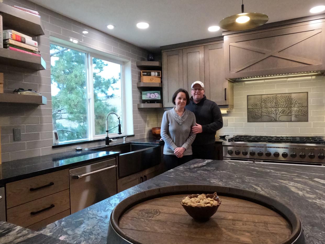
<svg viewBox="0 0 325 244"><path fill-rule="evenodd" d="M70 209L69 189L7 209L7 222L22 227ZM47 210L45 210L48 208ZM41 211L44 210L44 211Z"/></svg>

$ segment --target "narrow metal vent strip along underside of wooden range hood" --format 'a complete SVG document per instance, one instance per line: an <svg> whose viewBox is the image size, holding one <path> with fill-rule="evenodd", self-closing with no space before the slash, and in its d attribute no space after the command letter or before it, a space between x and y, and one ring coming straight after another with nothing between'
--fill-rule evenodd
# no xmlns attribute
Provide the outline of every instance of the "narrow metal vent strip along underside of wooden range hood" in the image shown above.
<svg viewBox="0 0 325 244"><path fill-rule="evenodd" d="M280 79L280 78L293 78L293 77L306 77L306 76L319 76L324 75L324 70L321 71L305 71L305 72L297 72L297 73L286 73L286 74L277 74L277 75L256 75L256 76L248 76L248 77L240 77L228 79L232 82L243 82L250 80L266 80L266 79Z"/></svg>

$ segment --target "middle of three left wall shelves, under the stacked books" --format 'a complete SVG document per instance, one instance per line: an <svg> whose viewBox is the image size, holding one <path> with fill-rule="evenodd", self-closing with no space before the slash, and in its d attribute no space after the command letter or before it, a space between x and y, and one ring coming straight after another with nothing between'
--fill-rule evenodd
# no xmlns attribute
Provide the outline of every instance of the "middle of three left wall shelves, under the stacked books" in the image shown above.
<svg viewBox="0 0 325 244"><path fill-rule="evenodd" d="M42 57L6 48L0 48L0 64L33 70L45 70L46 68Z"/></svg>

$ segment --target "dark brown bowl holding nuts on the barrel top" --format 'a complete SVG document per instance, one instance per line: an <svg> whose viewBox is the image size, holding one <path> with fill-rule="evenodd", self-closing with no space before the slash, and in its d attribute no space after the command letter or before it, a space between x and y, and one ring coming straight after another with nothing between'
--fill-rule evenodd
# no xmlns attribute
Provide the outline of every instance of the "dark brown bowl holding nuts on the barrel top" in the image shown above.
<svg viewBox="0 0 325 244"><path fill-rule="evenodd" d="M201 194L193 194L188 196L189 198L193 198L193 197L198 197ZM191 206L191 205L186 205L182 203L182 200L185 199L185 197L183 197L181 199L181 205L183 206L183 208L185 209L185 211L195 220L201 221L201 222L205 222L208 221L210 219L210 217L212 215L215 214L215 212L218 210L220 204L221 204L221 200L220 198L217 196L216 193L214 194L204 194L207 198L210 197L212 199L214 199L215 201L218 202L218 205L213 205L213 206Z"/></svg>

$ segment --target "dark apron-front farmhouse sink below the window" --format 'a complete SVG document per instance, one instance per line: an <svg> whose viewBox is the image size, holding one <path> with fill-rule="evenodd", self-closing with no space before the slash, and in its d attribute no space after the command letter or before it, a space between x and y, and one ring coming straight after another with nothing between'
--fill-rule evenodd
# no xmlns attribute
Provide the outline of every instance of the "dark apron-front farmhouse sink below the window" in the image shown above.
<svg viewBox="0 0 325 244"><path fill-rule="evenodd" d="M91 150L119 152L118 170L120 178L160 164L161 160L160 145L132 144L129 142Z"/></svg>

